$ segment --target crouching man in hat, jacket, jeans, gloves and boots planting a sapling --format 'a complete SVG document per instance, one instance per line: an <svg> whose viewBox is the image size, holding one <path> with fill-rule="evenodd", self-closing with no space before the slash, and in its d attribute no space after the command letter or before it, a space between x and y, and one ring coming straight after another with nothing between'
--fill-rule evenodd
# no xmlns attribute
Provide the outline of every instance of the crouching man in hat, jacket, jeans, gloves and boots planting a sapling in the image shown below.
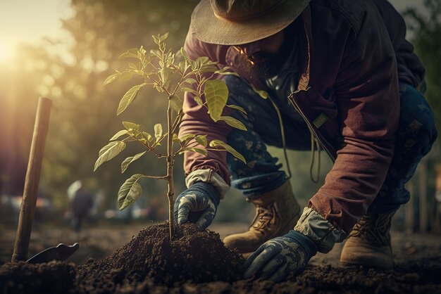
<svg viewBox="0 0 441 294"><path fill-rule="evenodd" d="M232 184L256 206L249 231L224 240L252 253L246 278L281 281L345 238L342 263L392 268L392 215L409 200L404 183L437 136L416 89L424 68L405 33L385 0L202 0L185 50L240 74L225 79L228 103L247 110L230 115L248 132L211 122L186 94L180 134L228 141L247 165L225 153L186 153L178 222L199 212L205 229ZM323 148L334 160L303 212L265 144Z"/></svg>

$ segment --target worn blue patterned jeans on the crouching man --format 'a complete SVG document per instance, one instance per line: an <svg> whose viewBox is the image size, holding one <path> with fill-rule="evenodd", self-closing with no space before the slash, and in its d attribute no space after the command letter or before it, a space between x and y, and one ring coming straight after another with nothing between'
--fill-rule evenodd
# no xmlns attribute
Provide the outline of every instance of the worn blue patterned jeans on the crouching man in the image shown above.
<svg viewBox="0 0 441 294"><path fill-rule="evenodd" d="M232 113L248 129L243 132L232 129L228 144L244 155L247 165L227 155L232 186L244 196L252 198L281 186L287 179L285 172L266 150L266 145L282 147L278 115L268 99L254 92L246 80L228 76L225 78L230 95L228 103L242 106L247 115ZM401 113L395 155L385 182L369 211L393 212L409 201L409 191L404 184L414 175L418 162L426 155L437 137L433 112L423 95L409 84L400 83ZM286 146L296 151L311 150L311 134L306 123L287 99L275 98L285 127Z"/></svg>

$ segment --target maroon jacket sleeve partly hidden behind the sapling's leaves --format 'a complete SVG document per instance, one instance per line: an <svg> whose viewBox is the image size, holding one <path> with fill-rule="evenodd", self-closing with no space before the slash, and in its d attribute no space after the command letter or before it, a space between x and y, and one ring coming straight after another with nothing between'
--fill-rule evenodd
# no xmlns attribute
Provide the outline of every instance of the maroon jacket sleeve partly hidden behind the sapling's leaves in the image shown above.
<svg viewBox="0 0 441 294"><path fill-rule="evenodd" d="M225 64L225 52L228 47L206 44L192 37L191 32L189 32L185 39L184 49L192 60L196 60L199 56L207 56L210 60L223 65ZM216 75L213 78L220 79L221 75ZM225 124L225 122L213 122L209 114L207 114L206 108L198 106L193 97L194 94L185 93L184 117L180 124L180 136L185 134L206 134L209 141L218 139L226 142L231 127ZM201 99L205 102L204 96ZM230 172L227 167L225 151L208 151L208 155L205 157L192 151L185 153L184 170L186 175L194 170L207 168L217 172L227 184L230 184Z"/></svg>

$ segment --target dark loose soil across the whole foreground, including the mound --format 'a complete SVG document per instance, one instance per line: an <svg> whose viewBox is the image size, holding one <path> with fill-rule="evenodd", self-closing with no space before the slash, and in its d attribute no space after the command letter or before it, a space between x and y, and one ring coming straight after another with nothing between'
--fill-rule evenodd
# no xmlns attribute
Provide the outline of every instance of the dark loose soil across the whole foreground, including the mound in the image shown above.
<svg viewBox="0 0 441 294"><path fill-rule="evenodd" d="M149 226L103 260L82 265L3 264L0 293L441 293L439 244L426 257L400 260L394 271L323 265L314 257L299 276L272 283L241 280L244 260L218 234L185 225L169 243L167 230Z"/></svg>

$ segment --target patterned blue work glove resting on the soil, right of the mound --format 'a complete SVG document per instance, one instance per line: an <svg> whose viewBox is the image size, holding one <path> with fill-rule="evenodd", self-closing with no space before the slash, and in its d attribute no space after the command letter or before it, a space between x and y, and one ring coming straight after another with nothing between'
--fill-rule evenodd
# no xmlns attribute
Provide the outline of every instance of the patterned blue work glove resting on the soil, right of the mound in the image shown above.
<svg viewBox="0 0 441 294"><path fill-rule="evenodd" d="M316 244L304 234L291 230L288 234L263 243L248 257L244 278L252 276L280 282L293 272L304 270L311 257L316 255Z"/></svg>

